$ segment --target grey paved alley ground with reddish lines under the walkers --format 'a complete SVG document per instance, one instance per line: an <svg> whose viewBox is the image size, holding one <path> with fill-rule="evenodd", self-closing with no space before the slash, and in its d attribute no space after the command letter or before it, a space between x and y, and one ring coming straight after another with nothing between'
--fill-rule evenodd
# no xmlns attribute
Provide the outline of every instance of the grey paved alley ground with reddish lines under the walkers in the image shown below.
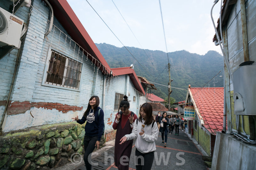
<svg viewBox="0 0 256 170"><path fill-rule="evenodd" d="M135 142L135 140L134 140ZM135 146L133 142L132 154L130 157L129 169L135 170ZM114 165L114 147L115 141L110 141L106 143L104 148L93 152L92 154L92 163L95 165L92 166L93 170L117 170ZM156 156L157 155L157 156ZM175 136L173 133L168 134L167 146L164 147L162 144L161 133L158 135L156 141L156 151L155 159L151 169L157 170L210 170L207 166L204 165L204 160L202 155L208 156L200 147L197 145L194 139L190 137L184 131L180 131L179 136ZM169 159L168 159L169 156ZM111 159L112 158L112 159ZM80 160L80 161L79 161ZM84 166L83 159L79 159L79 163L71 163L66 166L57 168L56 170L65 169L65 170L86 170Z"/></svg>

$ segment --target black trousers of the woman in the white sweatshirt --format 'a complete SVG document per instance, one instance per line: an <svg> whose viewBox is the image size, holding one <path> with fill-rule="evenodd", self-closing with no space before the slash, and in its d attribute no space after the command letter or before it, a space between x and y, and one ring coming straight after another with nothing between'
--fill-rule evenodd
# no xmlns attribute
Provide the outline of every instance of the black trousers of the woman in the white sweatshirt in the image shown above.
<svg viewBox="0 0 256 170"><path fill-rule="evenodd" d="M154 161L154 152L141 153L135 150L136 170L150 170Z"/></svg>

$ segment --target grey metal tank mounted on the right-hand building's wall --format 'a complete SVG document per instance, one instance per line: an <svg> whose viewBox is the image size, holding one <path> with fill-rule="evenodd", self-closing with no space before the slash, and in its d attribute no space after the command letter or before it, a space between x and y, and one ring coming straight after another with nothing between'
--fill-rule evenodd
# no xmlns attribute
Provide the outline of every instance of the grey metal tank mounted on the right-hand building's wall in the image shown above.
<svg viewBox="0 0 256 170"><path fill-rule="evenodd" d="M256 65L239 67L233 73L236 115L256 115Z"/></svg>

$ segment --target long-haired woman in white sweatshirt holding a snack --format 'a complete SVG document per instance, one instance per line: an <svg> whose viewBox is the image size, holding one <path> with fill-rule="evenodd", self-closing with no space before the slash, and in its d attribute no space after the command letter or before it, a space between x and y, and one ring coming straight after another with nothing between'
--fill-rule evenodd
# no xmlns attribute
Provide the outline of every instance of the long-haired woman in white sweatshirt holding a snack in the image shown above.
<svg viewBox="0 0 256 170"><path fill-rule="evenodd" d="M140 107L140 116L134 122L132 133L121 138L121 143L126 140L136 139L135 142L135 163L136 170L151 169L154 152L156 150L155 141L158 137L158 127L152 115L152 106L149 103L144 103Z"/></svg>

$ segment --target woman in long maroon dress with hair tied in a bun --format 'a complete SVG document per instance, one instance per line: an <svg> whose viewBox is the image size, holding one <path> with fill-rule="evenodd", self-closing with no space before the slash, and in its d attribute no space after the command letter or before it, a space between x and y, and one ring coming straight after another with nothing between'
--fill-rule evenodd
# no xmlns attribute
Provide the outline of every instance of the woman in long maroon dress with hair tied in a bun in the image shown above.
<svg viewBox="0 0 256 170"><path fill-rule="evenodd" d="M119 170L129 169L129 159L132 152L133 140L125 142L124 145L119 145L120 139L127 134L132 133L133 123L138 118L132 111L129 110L130 103L127 100L128 97L124 96L124 100L120 103L118 113L116 114L115 122L113 124L113 129L116 130L116 140L115 140L115 166ZM119 110L121 110L119 112ZM128 157L128 160L124 159L120 161L122 156ZM122 162L122 164L120 163Z"/></svg>

